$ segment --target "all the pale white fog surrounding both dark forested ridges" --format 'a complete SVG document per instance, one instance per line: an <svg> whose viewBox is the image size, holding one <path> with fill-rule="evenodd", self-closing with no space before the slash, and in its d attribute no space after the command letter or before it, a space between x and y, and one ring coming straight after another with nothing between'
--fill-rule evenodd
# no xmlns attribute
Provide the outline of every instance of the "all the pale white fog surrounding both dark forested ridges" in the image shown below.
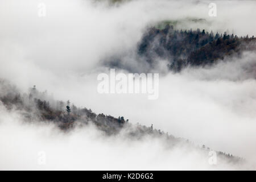
<svg viewBox="0 0 256 182"><path fill-rule="evenodd" d="M41 2L46 5L45 17L38 16ZM207 1L140 0L109 6L98 1L3 0L0 77L21 92L36 85L56 100L71 100L96 113L122 115L131 123L154 123L176 137L255 163L255 52L244 52L239 59L228 58L210 68L187 68L176 74L164 70L158 100L147 100L145 94L97 93L98 73L110 71L104 67L105 57L131 52L127 64L147 67L134 60L132 53L145 28L154 22L180 20L177 28L183 30L256 35L256 2L214 2L216 17L209 17ZM186 18L205 21L195 23ZM164 69L162 63L159 67ZM106 141L93 127L64 135L53 126L21 124L15 111L1 112L1 169L181 169L187 163L191 165L185 169L212 169L200 152L186 153L183 147L167 152L157 139L150 143ZM38 166L38 151L46 151L47 165ZM131 163L132 159L136 163ZM228 165L218 168L234 169Z"/></svg>

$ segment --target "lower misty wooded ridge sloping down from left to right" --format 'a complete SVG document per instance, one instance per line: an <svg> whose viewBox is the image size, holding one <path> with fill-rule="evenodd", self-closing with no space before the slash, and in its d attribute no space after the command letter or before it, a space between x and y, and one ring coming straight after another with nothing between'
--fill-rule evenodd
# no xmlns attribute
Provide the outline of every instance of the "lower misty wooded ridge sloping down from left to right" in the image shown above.
<svg viewBox="0 0 256 182"><path fill-rule="evenodd" d="M163 139L168 147L185 144L205 152L210 151L210 148L205 145L196 146L188 139L176 138L164 131L154 129L153 125L143 126L138 122L132 124L124 117L115 118L103 113L96 114L86 107L76 107L70 101L55 101L51 96L48 96L47 91L39 92L36 86L30 88L28 93L20 94L14 85L6 80L0 80L0 101L7 110L18 111L24 121L53 123L64 133L73 130L75 127L94 125L106 136L118 136L121 132L125 134L127 139L131 140L139 140L150 136ZM217 152L217 154L230 163L244 162L244 159L225 152Z"/></svg>

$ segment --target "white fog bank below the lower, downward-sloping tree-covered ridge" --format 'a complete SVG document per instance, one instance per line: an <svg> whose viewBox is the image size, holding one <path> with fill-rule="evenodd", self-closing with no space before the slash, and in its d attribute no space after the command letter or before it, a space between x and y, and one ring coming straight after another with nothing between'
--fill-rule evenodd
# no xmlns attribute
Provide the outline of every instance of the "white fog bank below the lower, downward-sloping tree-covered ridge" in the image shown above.
<svg viewBox="0 0 256 182"><path fill-rule="evenodd" d="M157 138L129 140L122 133L105 138L93 126L63 133L54 125L23 122L2 104L0 114L1 170L252 169L222 158L210 165L208 151L185 145L168 149Z"/></svg>

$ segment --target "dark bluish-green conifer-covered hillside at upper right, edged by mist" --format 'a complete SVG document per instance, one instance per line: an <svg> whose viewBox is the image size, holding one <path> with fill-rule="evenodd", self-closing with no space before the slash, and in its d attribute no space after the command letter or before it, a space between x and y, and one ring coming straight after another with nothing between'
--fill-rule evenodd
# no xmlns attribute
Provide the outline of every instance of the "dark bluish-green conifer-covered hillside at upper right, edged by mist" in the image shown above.
<svg viewBox="0 0 256 182"><path fill-rule="evenodd" d="M242 51L256 49L254 36L213 34L205 30L175 30L169 24L160 29L151 27L138 44L137 53L153 64L166 59L168 68L179 72L191 66L205 66L223 60L225 56L240 56Z"/></svg>

